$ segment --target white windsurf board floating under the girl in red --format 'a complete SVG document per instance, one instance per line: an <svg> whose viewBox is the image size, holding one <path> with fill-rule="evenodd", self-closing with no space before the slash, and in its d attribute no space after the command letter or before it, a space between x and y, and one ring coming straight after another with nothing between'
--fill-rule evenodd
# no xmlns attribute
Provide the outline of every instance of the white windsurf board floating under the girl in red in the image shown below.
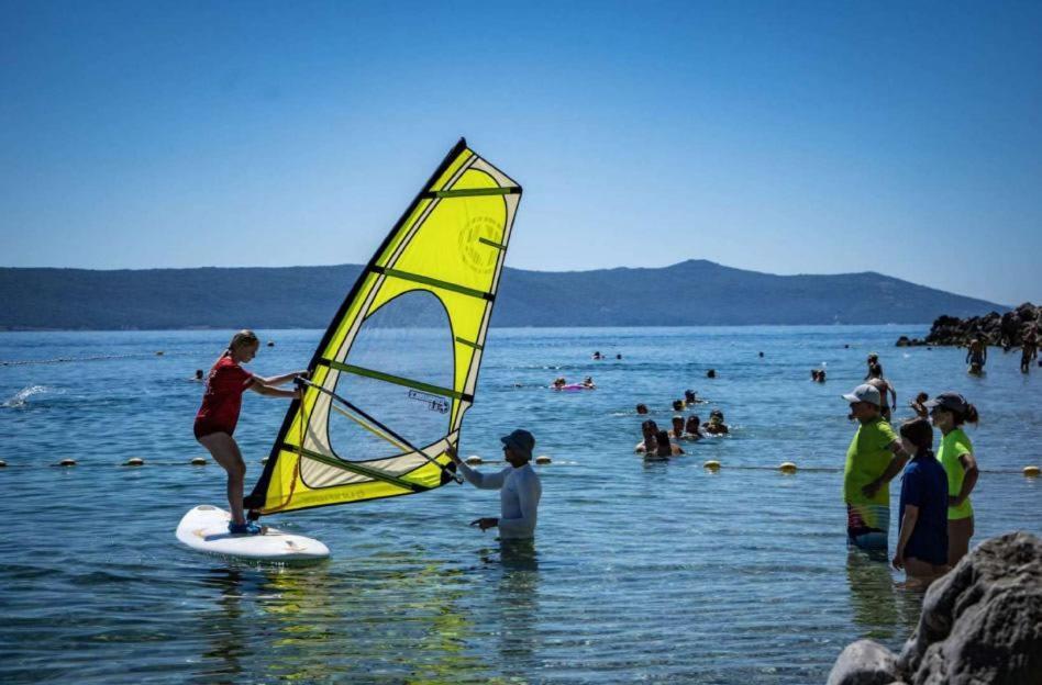
<svg viewBox="0 0 1042 685"><path fill-rule="evenodd" d="M201 504L190 509L177 525L177 539L200 552L256 561L318 561L330 555L323 543L304 536L267 528L263 535L232 535L224 509Z"/></svg>

